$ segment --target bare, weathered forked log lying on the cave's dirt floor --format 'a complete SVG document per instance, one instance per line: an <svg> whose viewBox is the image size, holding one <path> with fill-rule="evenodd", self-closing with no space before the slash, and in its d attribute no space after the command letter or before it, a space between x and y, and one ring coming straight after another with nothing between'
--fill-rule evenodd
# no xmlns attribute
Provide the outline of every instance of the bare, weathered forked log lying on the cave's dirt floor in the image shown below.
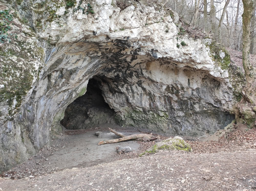
<svg viewBox="0 0 256 191"><path fill-rule="evenodd" d="M129 136L125 136L122 133L118 133L115 130L109 128L110 132L122 137L119 139L112 139L112 140L104 140L104 141L100 141L98 145L103 145L103 144L108 144L108 143L115 143L115 142L122 142L122 141L127 141L127 140L131 140L131 139L139 139L140 141L150 141L150 140L155 140L157 139L157 137L154 137L152 134L134 134L134 135L129 135Z"/></svg>

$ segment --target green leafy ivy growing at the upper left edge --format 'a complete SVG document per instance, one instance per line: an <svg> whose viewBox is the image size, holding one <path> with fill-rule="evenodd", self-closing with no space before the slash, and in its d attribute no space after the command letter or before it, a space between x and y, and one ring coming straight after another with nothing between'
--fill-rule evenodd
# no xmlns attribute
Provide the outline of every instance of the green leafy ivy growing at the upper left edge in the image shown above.
<svg viewBox="0 0 256 191"><path fill-rule="evenodd" d="M12 21L13 15L9 13L9 10L0 10L0 43L17 39L17 34L10 33L11 25L13 25Z"/></svg>

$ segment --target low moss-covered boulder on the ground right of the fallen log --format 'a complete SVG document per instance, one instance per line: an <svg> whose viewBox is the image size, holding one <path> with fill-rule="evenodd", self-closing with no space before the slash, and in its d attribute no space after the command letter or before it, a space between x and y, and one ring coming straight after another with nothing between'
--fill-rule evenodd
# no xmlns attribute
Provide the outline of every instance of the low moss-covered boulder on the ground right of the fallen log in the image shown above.
<svg viewBox="0 0 256 191"><path fill-rule="evenodd" d="M162 140L161 142L156 143L150 149L147 149L145 152L140 154L140 157L145 154L154 154L159 152L159 150L183 150L186 152L192 152L192 148L186 141L181 137L174 137Z"/></svg>

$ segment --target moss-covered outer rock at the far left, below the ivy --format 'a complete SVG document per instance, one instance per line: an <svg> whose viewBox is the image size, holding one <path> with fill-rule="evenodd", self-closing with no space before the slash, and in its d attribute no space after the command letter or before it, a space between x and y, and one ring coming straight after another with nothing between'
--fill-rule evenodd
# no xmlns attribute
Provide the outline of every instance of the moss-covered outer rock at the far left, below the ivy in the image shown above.
<svg viewBox="0 0 256 191"><path fill-rule="evenodd" d="M38 79L45 57L44 50L37 44L36 34L20 23L20 19L15 18L14 22L12 30L21 30L21 33L12 44L3 44L0 48L0 105L8 107L8 114L3 113L5 121L13 120L24 96ZM28 33L30 35L26 35Z"/></svg>

